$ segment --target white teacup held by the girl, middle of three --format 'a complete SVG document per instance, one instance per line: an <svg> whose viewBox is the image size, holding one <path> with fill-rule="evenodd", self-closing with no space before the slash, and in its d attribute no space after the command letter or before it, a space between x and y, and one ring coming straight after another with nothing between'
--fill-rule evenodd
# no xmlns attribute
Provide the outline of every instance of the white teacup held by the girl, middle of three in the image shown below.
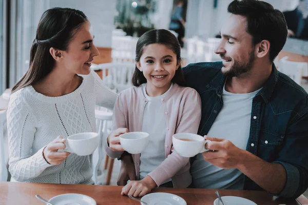
<svg viewBox="0 0 308 205"><path fill-rule="evenodd" d="M146 132L128 132L120 135L120 143L130 154L141 153L149 143L149 134Z"/></svg>

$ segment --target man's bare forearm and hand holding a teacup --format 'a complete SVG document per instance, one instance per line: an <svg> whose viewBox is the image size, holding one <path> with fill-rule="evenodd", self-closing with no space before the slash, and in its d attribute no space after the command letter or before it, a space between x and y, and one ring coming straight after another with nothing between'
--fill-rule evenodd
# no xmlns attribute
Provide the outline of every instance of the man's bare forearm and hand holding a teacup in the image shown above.
<svg viewBox="0 0 308 205"><path fill-rule="evenodd" d="M279 163L266 162L256 155L239 149L229 140L206 137L206 149L203 157L211 164L224 169L238 169L255 181L264 190L278 194L285 186L286 172Z"/></svg>

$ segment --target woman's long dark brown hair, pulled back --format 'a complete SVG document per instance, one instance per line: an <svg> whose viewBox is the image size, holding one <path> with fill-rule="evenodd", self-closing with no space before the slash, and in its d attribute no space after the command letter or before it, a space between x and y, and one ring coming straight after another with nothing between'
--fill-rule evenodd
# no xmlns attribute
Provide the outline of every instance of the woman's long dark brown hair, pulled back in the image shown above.
<svg viewBox="0 0 308 205"><path fill-rule="evenodd" d="M33 85L46 77L55 64L49 49L52 47L67 50L76 30L86 21L87 16L76 9L52 8L45 11L32 43L29 70L15 84L12 92Z"/></svg>

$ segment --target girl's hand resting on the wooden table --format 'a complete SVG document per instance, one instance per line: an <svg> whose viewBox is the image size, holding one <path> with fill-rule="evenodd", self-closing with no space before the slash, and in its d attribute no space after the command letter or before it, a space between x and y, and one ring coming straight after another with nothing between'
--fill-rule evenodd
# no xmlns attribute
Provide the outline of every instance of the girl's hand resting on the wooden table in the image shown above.
<svg viewBox="0 0 308 205"><path fill-rule="evenodd" d="M156 187L155 181L146 176L140 181L129 181L125 187L122 188L122 195L131 195L133 197L142 197Z"/></svg>

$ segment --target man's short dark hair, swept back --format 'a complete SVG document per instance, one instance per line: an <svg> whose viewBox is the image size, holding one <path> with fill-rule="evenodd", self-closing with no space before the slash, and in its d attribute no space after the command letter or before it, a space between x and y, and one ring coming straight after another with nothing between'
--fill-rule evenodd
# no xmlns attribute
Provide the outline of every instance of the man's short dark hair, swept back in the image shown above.
<svg viewBox="0 0 308 205"><path fill-rule="evenodd" d="M271 44L269 60L274 61L287 36L287 26L282 12L266 2L257 0L234 0L229 4L228 12L246 17L246 31L253 36L253 45L268 40Z"/></svg>

